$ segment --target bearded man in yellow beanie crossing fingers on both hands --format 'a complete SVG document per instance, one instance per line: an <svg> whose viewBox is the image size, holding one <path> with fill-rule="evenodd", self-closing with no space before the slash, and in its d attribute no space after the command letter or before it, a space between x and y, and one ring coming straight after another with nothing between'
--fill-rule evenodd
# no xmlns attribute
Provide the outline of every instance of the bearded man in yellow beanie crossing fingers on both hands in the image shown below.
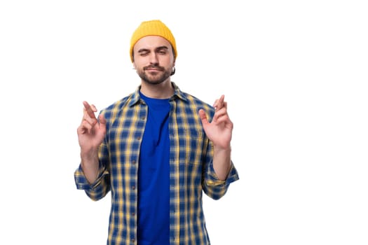
<svg viewBox="0 0 368 245"><path fill-rule="evenodd" d="M203 192L217 200L238 180L224 95L210 106L170 80L177 46L160 20L135 30L130 58L135 92L98 118L83 102L76 186L92 200L111 191L107 244L210 244Z"/></svg>

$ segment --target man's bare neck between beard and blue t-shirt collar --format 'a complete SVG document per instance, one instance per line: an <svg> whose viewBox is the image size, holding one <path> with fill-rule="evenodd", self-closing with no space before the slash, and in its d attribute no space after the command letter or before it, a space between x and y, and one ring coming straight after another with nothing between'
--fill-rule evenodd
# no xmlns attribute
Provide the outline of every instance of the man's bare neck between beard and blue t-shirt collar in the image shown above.
<svg viewBox="0 0 368 245"><path fill-rule="evenodd" d="M170 79L160 84L149 84L142 80L140 91L146 97L168 99L174 94L174 87L172 87Z"/></svg>

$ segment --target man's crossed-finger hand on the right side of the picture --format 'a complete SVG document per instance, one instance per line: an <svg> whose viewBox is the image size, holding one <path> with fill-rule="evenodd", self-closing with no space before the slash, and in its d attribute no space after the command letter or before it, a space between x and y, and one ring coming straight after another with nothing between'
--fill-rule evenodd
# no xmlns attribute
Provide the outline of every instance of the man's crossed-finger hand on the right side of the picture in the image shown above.
<svg viewBox="0 0 368 245"><path fill-rule="evenodd" d="M213 142L214 147L226 150L230 148L233 123L227 113L227 102L224 102L224 95L216 99L213 106L215 112L211 123L208 122L203 109L198 111L199 117L202 120L203 130L205 130L208 139Z"/></svg>

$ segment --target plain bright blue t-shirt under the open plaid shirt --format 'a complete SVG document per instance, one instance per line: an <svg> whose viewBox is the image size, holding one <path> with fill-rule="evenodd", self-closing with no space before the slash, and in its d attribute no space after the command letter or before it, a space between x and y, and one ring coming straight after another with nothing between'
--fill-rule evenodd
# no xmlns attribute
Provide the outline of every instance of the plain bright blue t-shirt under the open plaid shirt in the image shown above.
<svg viewBox="0 0 368 245"><path fill-rule="evenodd" d="M170 139L169 99L152 99L140 93L148 118L139 154L139 245L170 244Z"/></svg>

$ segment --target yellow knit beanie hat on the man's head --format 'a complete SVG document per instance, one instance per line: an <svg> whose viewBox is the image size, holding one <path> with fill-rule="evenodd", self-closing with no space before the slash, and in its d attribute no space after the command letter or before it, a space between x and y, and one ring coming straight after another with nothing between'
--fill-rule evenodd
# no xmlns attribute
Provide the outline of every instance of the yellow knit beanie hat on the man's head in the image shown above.
<svg viewBox="0 0 368 245"><path fill-rule="evenodd" d="M172 35L170 29L161 22L161 20L149 20L144 21L139 25L139 27L134 31L132 38L130 39L130 59L133 59L133 47L137 41L144 36L161 36L168 40L172 49L174 50L174 57L177 57L177 45L175 43L175 38Z"/></svg>

